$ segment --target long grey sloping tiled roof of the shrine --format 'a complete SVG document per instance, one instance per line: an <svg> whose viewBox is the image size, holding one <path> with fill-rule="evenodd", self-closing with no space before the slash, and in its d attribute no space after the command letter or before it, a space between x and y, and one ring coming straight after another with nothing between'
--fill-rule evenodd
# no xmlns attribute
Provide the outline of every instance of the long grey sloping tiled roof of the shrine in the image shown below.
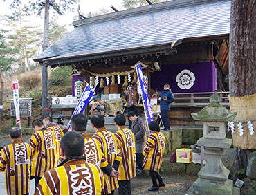
<svg viewBox="0 0 256 195"><path fill-rule="evenodd" d="M225 35L230 31L230 0L178 0L86 19L35 61L170 44Z"/></svg>

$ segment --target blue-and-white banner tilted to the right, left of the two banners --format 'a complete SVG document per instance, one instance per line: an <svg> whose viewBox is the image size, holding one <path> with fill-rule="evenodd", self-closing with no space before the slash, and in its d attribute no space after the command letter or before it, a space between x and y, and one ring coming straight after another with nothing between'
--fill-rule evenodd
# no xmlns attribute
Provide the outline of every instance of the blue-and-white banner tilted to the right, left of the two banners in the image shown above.
<svg viewBox="0 0 256 195"><path fill-rule="evenodd" d="M86 88L84 89L84 92L82 93L82 96L77 106L75 107L75 111L73 112L71 118L73 117L73 115L80 114L82 113L82 111L84 111L85 107L91 100L91 97L93 97L93 93L94 92L91 90L90 86L87 85ZM68 122L68 131L71 131L71 120L69 120Z"/></svg>

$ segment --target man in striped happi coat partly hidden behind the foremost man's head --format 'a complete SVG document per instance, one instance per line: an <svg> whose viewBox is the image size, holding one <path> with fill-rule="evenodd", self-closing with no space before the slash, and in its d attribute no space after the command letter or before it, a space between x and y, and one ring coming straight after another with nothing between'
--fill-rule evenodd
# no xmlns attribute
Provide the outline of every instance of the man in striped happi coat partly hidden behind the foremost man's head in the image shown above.
<svg viewBox="0 0 256 195"><path fill-rule="evenodd" d="M84 156L86 157L86 162L97 165L108 176L115 177L116 174L119 176L120 173L107 163L107 158L101 151L100 145L97 144L90 133L86 133L86 127L87 118L85 115L73 115L71 118L71 131L76 131L84 137Z"/></svg>

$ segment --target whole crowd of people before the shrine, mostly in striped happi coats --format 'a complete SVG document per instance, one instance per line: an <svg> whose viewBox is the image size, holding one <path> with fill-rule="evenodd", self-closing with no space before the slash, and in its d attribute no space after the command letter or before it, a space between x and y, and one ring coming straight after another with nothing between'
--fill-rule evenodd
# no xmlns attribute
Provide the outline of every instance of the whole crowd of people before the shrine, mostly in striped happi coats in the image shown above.
<svg viewBox="0 0 256 195"><path fill-rule="evenodd" d="M161 115L173 101L172 92L165 85L159 96ZM131 88L132 91L132 88ZM134 93L127 93L134 102ZM130 97L128 97L130 98ZM124 115L114 118L117 131L112 133L104 127L104 116L91 115L93 135L86 133L87 118L77 114L71 118L71 129L64 127L64 116L55 124L51 117L33 120L35 131L29 143L24 142L21 129L9 131L12 144L0 152L0 171L5 171L6 193L29 194L30 180L35 179L34 194L131 194L131 179L149 170L152 187L158 191L165 186L158 174L163 161L165 136L156 121L147 126L137 116L134 103L129 104L129 128ZM157 182L158 180L158 182Z"/></svg>

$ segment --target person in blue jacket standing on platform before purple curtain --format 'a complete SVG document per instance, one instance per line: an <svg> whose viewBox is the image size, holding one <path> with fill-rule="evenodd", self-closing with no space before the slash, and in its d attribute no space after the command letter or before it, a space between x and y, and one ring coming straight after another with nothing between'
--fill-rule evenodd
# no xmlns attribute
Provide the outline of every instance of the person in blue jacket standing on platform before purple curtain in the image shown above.
<svg viewBox="0 0 256 195"><path fill-rule="evenodd" d="M170 90L170 85L165 83L163 86L163 91L158 97L160 101L160 109L161 109L161 118L163 120L164 128L162 130L170 130L170 121L169 121L169 111L171 109L171 103L174 101L174 95Z"/></svg>

